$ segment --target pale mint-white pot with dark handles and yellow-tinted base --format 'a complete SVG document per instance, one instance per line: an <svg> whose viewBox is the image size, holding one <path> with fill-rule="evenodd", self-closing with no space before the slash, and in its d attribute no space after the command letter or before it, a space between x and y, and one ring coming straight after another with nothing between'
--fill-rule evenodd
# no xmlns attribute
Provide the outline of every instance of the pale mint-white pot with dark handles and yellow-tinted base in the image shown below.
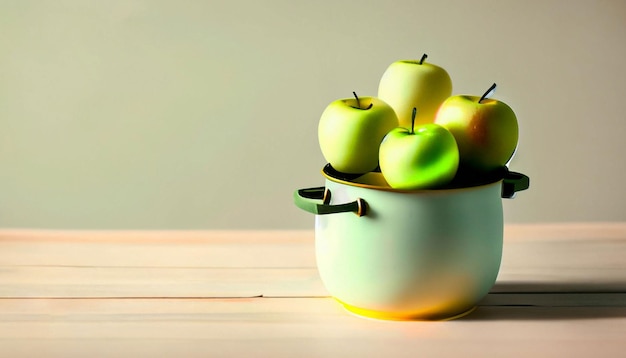
<svg viewBox="0 0 626 358"><path fill-rule="evenodd" d="M315 216L320 277L349 311L382 319L449 319L470 312L495 283L502 197L528 188L505 171L472 187L400 191L380 173L297 190Z"/></svg>

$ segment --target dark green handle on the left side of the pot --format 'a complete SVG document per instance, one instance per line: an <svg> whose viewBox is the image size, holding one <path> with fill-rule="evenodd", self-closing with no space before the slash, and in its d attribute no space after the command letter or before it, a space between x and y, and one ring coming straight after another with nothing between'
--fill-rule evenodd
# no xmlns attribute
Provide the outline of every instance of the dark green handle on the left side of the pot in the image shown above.
<svg viewBox="0 0 626 358"><path fill-rule="evenodd" d="M367 203L361 198L355 201L330 205L330 190L325 187L298 189L293 193L293 200L297 207L316 215L353 212L363 216L367 211ZM321 203L315 202L321 200Z"/></svg>

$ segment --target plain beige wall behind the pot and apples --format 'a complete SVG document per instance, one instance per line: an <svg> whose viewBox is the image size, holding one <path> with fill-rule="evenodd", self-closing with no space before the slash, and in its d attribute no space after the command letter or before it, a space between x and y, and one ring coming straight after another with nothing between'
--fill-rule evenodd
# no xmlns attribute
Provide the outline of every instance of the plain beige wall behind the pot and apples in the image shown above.
<svg viewBox="0 0 626 358"><path fill-rule="evenodd" d="M626 220L626 2L0 0L0 227L309 229L317 121L391 62L516 111L508 222Z"/></svg>

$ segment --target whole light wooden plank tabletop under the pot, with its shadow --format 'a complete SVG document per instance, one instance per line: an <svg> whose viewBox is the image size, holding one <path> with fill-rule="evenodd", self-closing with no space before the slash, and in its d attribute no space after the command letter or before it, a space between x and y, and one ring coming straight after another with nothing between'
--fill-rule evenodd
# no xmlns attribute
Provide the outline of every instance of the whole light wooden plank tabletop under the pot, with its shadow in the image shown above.
<svg viewBox="0 0 626 358"><path fill-rule="evenodd" d="M626 357L626 223L507 225L442 322L344 311L312 231L0 230L0 357L246 356Z"/></svg>

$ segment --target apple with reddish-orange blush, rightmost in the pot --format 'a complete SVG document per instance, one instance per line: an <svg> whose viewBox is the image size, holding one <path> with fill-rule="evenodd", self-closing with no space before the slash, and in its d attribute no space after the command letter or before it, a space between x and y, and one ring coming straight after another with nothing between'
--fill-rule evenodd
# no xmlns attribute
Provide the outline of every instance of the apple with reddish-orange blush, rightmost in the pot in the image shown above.
<svg viewBox="0 0 626 358"><path fill-rule="evenodd" d="M459 146L461 166L493 170L513 156L519 139L515 113L495 99L458 95L442 103L435 123L448 129Z"/></svg>

